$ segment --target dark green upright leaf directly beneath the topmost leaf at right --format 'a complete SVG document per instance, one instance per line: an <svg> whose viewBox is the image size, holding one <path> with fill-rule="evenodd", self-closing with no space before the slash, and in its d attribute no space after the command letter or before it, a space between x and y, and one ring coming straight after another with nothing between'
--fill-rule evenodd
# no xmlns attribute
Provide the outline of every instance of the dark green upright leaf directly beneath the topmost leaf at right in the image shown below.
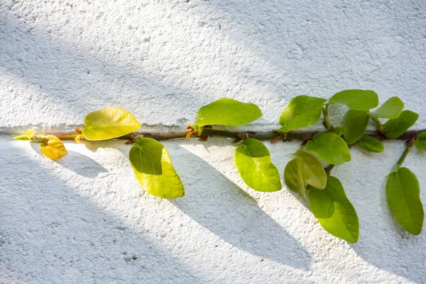
<svg viewBox="0 0 426 284"><path fill-rule="evenodd" d="M370 116L366 111L349 109L344 120L343 137L349 145L356 143L366 132Z"/></svg>

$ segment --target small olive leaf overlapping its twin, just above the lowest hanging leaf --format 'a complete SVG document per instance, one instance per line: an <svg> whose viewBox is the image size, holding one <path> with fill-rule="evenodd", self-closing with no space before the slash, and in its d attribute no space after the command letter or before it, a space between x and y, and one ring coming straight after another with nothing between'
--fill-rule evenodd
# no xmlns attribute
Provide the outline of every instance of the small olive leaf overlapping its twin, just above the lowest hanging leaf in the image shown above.
<svg viewBox="0 0 426 284"><path fill-rule="evenodd" d="M306 151L297 151L297 156L302 159L302 176L308 184L324 190L327 183L327 174L317 156Z"/></svg>

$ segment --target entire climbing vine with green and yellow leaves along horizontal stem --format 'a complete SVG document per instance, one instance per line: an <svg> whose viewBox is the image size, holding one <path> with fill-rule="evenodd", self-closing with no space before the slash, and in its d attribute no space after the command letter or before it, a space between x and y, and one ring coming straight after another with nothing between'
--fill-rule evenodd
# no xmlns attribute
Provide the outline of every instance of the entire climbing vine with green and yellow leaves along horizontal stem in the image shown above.
<svg viewBox="0 0 426 284"><path fill-rule="evenodd" d="M348 109L343 126L333 126L329 106L343 104ZM271 161L271 154L262 140L302 140L284 169L284 181L289 190L306 198L321 226L334 236L355 243L359 239L359 219L354 206L346 197L342 182L330 175L335 165L351 160L350 148L358 145L366 151L381 153L385 139L405 140L405 151L388 175L386 197L393 217L406 231L418 235L422 231L424 211L420 200L420 186L415 174L403 167L405 157L413 147L426 151L426 131L408 131L418 114L403 110L398 97L391 97L378 107L378 95L371 90L348 89L330 99L300 95L293 98L279 118L280 129L244 133L222 131L214 126L242 126L262 116L256 104L234 99L218 99L200 108L198 120L188 131L163 134L136 134L141 124L129 111L109 107L93 111L84 119L84 129L75 134L48 135L28 130L15 137L40 143L40 151L48 158L60 159L67 155L62 140L90 141L126 138L131 144L129 160L143 190L162 198L183 197L185 190L173 168L170 155L159 141L197 137L206 141L209 136L234 138L236 168L246 185L261 192L282 189L280 172ZM378 107L378 109L376 109ZM371 111L371 109L376 109ZM307 133L295 131L317 123L323 117L327 131ZM377 131L366 132L370 120ZM388 119L382 124L381 119Z"/></svg>

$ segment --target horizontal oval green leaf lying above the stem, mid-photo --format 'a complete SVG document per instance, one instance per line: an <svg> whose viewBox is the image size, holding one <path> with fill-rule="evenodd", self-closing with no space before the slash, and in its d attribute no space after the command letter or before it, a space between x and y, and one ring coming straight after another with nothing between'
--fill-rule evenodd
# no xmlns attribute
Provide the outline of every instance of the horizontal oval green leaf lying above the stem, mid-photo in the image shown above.
<svg viewBox="0 0 426 284"><path fill-rule="evenodd" d="M262 116L256 104L236 101L235 99L218 99L198 111L195 125L240 126L249 124Z"/></svg>

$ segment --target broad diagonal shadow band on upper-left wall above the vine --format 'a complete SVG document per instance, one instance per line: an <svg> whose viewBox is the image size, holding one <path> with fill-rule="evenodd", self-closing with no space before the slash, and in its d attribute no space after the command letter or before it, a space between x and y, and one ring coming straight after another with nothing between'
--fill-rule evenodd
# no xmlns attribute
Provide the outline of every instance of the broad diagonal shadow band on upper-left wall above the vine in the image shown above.
<svg viewBox="0 0 426 284"><path fill-rule="evenodd" d="M28 97L11 88L10 98L27 96L26 99L10 102L8 97L2 99L2 102L6 99L14 103L16 112L25 110L26 116L31 117L30 123L40 121L40 116L46 121L49 115L58 114L67 121L82 124L89 111L127 106L141 123L158 124L158 119L166 114L162 110L168 109L167 113L173 114L175 126L185 126L187 118L174 117L185 113L182 107L198 109L210 101L208 94L188 92L168 82L158 75L159 70L145 70L133 62L121 62L120 58L104 58L88 47L59 42L49 31L36 31L2 11L1 6L0 26L0 42L3 43L0 70L4 69L22 80L22 84L43 94ZM34 114L32 108L43 110L43 113Z"/></svg>

